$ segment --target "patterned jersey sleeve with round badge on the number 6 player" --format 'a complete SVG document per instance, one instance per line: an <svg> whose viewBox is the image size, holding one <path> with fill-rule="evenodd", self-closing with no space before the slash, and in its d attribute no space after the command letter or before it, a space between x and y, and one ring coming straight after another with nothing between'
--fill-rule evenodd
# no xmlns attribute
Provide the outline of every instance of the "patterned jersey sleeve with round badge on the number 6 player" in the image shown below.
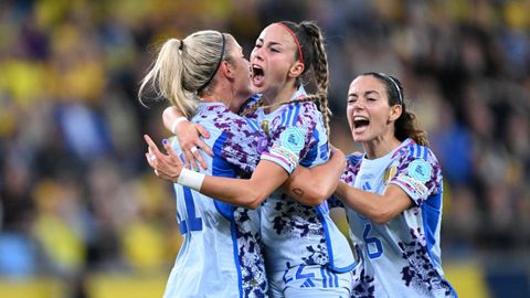
<svg viewBox="0 0 530 298"><path fill-rule="evenodd" d="M442 169L434 153L424 146L402 149L396 172L390 183L400 187L421 206L427 198L441 191Z"/></svg>

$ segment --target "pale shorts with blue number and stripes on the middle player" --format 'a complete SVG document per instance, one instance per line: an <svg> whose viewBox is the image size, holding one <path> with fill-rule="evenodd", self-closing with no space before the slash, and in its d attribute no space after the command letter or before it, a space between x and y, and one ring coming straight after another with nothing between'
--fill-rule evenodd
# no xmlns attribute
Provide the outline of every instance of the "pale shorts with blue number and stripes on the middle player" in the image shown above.
<svg viewBox="0 0 530 298"><path fill-rule="evenodd" d="M268 275L269 297L350 297L351 272L336 273L320 265L296 266Z"/></svg>

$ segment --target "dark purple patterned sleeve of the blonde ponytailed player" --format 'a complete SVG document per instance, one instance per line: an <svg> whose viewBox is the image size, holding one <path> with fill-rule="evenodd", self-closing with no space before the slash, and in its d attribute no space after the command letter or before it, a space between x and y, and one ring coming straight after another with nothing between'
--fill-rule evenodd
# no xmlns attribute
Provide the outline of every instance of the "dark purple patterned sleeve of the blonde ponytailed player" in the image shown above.
<svg viewBox="0 0 530 298"><path fill-rule="evenodd" d="M213 121L206 121L213 129L221 130L212 146L214 155L220 156L239 170L250 174L259 161L261 150L266 148L267 137L255 121L231 113L226 107L209 107L209 115L215 115ZM205 127L208 129L208 127Z"/></svg>

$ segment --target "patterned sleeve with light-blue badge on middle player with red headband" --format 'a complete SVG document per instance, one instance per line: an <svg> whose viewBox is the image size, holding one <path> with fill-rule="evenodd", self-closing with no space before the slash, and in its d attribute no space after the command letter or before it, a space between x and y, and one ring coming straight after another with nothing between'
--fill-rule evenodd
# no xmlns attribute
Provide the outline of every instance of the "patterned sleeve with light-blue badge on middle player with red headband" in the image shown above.
<svg viewBox="0 0 530 298"><path fill-rule="evenodd" d="M282 117L276 117L272 124L277 128L272 131L268 150L262 153L262 159L277 163L290 174L298 161L316 146L312 135L319 115L314 103L290 104L286 107Z"/></svg>

